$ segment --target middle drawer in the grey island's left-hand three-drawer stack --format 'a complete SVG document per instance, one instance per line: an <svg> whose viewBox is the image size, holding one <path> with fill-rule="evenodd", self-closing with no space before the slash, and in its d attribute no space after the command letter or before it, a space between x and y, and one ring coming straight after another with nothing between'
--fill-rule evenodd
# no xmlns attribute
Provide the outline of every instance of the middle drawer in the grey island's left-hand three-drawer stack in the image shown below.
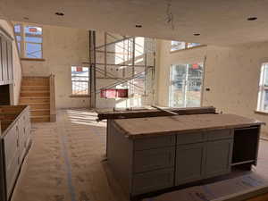
<svg viewBox="0 0 268 201"><path fill-rule="evenodd" d="M175 162L175 147L149 149L134 153L134 172L170 168Z"/></svg>

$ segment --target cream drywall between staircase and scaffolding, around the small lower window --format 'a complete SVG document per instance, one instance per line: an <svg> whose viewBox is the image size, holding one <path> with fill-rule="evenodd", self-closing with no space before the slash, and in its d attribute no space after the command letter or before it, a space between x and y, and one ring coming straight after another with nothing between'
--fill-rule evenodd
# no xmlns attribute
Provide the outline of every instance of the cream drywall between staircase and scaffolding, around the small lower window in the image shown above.
<svg viewBox="0 0 268 201"><path fill-rule="evenodd" d="M88 31L56 26L43 27L45 61L21 60L25 76L55 75L56 107L88 107L89 97L71 97L71 66L88 61Z"/></svg>

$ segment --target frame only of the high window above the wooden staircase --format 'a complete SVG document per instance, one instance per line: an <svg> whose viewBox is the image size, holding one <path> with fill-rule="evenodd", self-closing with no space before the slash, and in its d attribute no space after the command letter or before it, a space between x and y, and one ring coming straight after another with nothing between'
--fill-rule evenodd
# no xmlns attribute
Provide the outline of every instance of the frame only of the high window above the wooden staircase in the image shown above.
<svg viewBox="0 0 268 201"><path fill-rule="evenodd" d="M15 26L19 25L20 26L20 33L15 32ZM38 27L42 29L42 33L40 35L36 34L33 36L27 36L27 34L25 33L25 28L26 27ZM14 36L15 36L15 41L16 41L16 45L18 48L18 51L20 53L20 58L21 60L33 60L33 61L45 61L44 59L44 50L43 50L43 46L44 46L44 33L43 33L43 26L37 25L37 24L33 24L33 23L23 23L23 22L14 22L13 23L13 29L14 29ZM42 42L41 43L36 43L36 42L27 42L26 41L26 37L35 37L38 36L38 38L42 38ZM20 49L18 46L18 40L17 37L21 37L21 41L20 41ZM28 57L27 56L27 50L26 50L26 44L40 44L41 46L41 57L40 58L32 58L32 57Z"/></svg>

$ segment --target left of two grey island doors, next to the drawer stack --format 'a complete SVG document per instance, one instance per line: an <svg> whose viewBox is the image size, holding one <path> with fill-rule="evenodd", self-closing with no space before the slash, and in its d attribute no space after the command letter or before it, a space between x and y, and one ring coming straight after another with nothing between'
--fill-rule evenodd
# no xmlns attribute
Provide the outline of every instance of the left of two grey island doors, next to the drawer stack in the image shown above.
<svg viewBox="0 0 268 201"><path fill-rule="evenodd" d="M205 164L205 143L178 146L176 150L176 186L201 180Z"/></svg>

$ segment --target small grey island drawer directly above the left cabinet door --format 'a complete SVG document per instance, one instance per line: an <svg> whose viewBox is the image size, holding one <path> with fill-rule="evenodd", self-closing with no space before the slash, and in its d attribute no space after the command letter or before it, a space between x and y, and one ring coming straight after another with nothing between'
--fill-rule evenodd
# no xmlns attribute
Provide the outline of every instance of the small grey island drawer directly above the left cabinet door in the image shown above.
<svg viewBox="0 0 268 201"><path fill-rule="evenodd" d="M182 133L177 135L177 145L191 144L205 141L205 134L198 133Z"/></svg>

